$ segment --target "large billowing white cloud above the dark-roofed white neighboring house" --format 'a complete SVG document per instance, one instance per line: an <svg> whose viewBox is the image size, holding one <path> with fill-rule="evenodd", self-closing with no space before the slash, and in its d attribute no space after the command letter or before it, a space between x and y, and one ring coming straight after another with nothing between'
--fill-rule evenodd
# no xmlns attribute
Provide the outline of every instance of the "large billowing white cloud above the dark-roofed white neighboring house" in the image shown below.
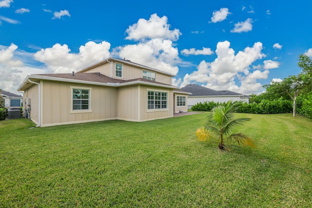
<svg viewBox="0 0 312 208"><path fill-rule="evenodd" d="M256 60L265 57L262 49L262 43L255 42L253 47L246 47L235 55L235 51L230 48L230 42L218 42L215 50L217 58L213 62L201 61L196 71L184 76L180 86L204 83L206 87L215 90L228 89L243 94L258 92L262 90L262 84L257 83L257 79L266 79L269 71L250 72L250 67ZM240 86L235 81L239 81Z"/></svg>

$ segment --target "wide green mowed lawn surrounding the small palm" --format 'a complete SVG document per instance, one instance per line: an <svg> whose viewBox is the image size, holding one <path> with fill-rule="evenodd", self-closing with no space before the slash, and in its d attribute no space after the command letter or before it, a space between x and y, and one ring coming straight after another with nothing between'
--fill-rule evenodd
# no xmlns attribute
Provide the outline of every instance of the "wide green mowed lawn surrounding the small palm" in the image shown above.
<svg viewBox="0 0 312 208"><path fill-rule="evenodd" d="M0 207L312 207L312 121L252 118L256 147L200 142L208 113L32 128L0 122Z"/></svg>

